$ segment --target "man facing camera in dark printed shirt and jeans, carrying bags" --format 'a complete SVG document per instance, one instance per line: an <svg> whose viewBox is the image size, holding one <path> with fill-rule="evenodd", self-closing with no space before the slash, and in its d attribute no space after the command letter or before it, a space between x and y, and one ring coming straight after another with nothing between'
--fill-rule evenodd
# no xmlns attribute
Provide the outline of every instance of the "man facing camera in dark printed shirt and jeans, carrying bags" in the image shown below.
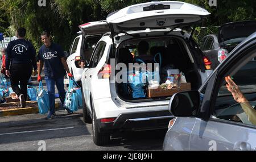
<svg viewBox="0 0 256 162"><path fill-rule="evenodd" d="M65 99L64 89L64 76L67 71L69 77L73 77L69 72L67 62L64 59L64 52L60 45L53 43L50 39L50 34L44 31L41 34L41 39L44 43L39 49L39 70L38 70L38 81L42 80L40 74L44 65L44 74L49 94L49 105L50 110L46 119L51 119L56 116L55 114L55 82L59 92L60 101L62 105ZM69 114L72 111L67 110Z"/></svg>

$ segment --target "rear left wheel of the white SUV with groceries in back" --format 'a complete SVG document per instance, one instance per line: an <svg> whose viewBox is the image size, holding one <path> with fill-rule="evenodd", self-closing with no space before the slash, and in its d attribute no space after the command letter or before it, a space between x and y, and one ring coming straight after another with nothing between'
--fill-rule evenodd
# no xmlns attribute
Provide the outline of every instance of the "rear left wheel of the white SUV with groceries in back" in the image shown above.
<svg viewBox="0 0 256 162"><path fill-rule="evenodd" d="M93 142L97 146L104 146L110 141L110 133L102 133L98 130L98 124L96 121L96 115L94 113L94 106L92 103L92 131L93 131Z"/></svg>

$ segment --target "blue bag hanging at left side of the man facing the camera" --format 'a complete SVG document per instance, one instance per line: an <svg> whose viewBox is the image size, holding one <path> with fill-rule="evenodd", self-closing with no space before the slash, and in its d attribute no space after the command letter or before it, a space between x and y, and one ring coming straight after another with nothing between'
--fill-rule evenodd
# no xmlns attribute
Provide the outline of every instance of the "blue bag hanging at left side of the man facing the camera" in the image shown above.
<svg viewBox="0 0 256 162"><path fill-rule="evenodd" d="M38 110L40 114L46 114L49 110L49 95L44 90L42 81L39 82L38 88Z"/></svg>

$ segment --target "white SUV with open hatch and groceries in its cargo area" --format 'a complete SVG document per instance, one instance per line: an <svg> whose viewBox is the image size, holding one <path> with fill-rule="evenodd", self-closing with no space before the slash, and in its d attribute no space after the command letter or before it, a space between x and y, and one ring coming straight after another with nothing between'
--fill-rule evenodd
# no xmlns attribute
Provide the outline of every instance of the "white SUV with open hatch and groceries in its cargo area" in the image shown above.
<svg viewBox="0 0 256 162"><path fill-rule="evenodd" d="M174 117L168 111L171 96L134 98L128 84L116 80L119 63L135 63L137 44L146 40L148 56L162 53L161 66L174 64L191 82L191 88L198 89L212 70L206 70L203 53L191 35L179 28L188 29L209 14L184 2L154 1L108 16L111 32L98 41L81 79L84 121L92 120L95 144L107 144L114 131L168 127Z"/></svg>

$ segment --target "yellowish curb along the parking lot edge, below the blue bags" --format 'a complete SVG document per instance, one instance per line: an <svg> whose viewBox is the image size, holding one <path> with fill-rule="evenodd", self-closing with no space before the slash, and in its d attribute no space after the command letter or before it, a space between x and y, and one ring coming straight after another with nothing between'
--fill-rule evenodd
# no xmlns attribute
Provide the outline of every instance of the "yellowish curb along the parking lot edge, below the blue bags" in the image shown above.
<svg viewBox="0 0 256 162"><path fill-rule="evenodd" d="M59 106L60 106L59 102L56 102L55 109L59 109ZM10 115L31 114L31 113L39 113L38 106L18 108L18 109L9 109L9 110L0 110L0 117L10 116Z"/></svg>

